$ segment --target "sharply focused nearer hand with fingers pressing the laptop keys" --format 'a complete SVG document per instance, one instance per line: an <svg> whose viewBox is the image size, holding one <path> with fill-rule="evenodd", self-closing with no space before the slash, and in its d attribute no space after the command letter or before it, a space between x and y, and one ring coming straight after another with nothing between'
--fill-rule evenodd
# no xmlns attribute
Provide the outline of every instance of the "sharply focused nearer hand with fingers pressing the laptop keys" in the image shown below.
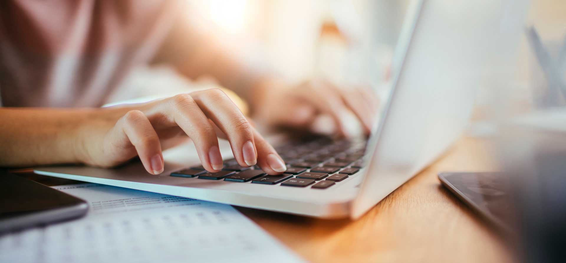
<svg viewBox="0 0 566 263"><path fill-rule="evenodd" d="M100 113L101 115L99 115ZM258 166L269 175L285 171L285 163L255 130L226 94L219 89L179 94L167 99L127 107L100 109L96 120L79 128L79 160L100 166L117 166L136 155L145 169L163 172L162 143L189 137L202 166L222 169L217 137L227 138L234 158L243 167Z"/></svg>

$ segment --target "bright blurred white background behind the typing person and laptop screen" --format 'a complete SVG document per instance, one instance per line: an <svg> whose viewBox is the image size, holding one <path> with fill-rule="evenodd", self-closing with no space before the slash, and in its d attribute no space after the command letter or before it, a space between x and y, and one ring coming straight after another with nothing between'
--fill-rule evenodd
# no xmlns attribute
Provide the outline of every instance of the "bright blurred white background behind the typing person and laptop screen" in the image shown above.
<svg viewBox="0 0 566 263"><path fill-rule="evenodd" d="M268 66L291 83L322 77L341 86L370 84L381 95L387 94L393 49L409 3L408 0L189 2L187 8L191 12L208 20L203 22L207 29L217 31L226 43L236 44L234 48L247 60ZM528 12L526 26L534 26L542 43L556 56L566 39L564 14L563 0L531 1ZM541 100L546 79L528 39L521 37L520 41L512 79L505 81L510 90L505 96L512 104L512 111L524 113ZM118 89L110 103L132 99L132 94L153 95L156 86L162 87L160 90L172 90L170 93L178 93L187 86L186 81L173 78L175 74L162 67L141 68L138 73L124 83L128 88ZM477 105L486 107L492 95L491 88L480 87Z"/></svg>

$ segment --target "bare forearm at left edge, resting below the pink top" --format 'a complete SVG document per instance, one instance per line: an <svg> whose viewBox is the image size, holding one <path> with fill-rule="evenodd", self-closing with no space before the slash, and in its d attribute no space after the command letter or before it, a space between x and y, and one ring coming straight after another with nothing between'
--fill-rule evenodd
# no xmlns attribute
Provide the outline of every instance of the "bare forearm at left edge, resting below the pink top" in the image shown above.
<svg viewBox="0 0 566 263"><path fill-rule="evenodd" d="M0 167L78 163L78 133L98 109L0 108Z"/></svg>

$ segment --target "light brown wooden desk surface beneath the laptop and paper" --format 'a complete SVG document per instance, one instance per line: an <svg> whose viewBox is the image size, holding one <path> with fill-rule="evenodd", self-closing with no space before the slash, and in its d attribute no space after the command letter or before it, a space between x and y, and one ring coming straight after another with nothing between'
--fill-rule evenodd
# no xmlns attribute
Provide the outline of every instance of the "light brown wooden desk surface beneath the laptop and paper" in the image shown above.
<svg viewBox="0 0 566 263"><path fill-rule="evenodd" d="M356 221L238 210L311 262L510 262L499 237L437 177L488 171L492 160L486 141L463 138ZM72 181L30 177L48 185Z"/></svg>

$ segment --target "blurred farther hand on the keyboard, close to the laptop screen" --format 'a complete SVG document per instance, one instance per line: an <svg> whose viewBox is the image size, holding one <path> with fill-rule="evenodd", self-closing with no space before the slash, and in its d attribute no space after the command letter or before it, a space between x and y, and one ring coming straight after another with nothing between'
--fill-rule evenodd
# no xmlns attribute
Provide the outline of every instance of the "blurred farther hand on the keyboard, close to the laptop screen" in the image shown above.
<svg viewBox="0 0 566 263"><path fill-rule="evenodd" d="M310 80L297 86L267 80L256 86L252 116L271 126L308 129L320 114L328 114L337 133L348 137L346 112L355 114L366 134L371 132L379 100L370 88L340 88L324 80Z"/></svg>

